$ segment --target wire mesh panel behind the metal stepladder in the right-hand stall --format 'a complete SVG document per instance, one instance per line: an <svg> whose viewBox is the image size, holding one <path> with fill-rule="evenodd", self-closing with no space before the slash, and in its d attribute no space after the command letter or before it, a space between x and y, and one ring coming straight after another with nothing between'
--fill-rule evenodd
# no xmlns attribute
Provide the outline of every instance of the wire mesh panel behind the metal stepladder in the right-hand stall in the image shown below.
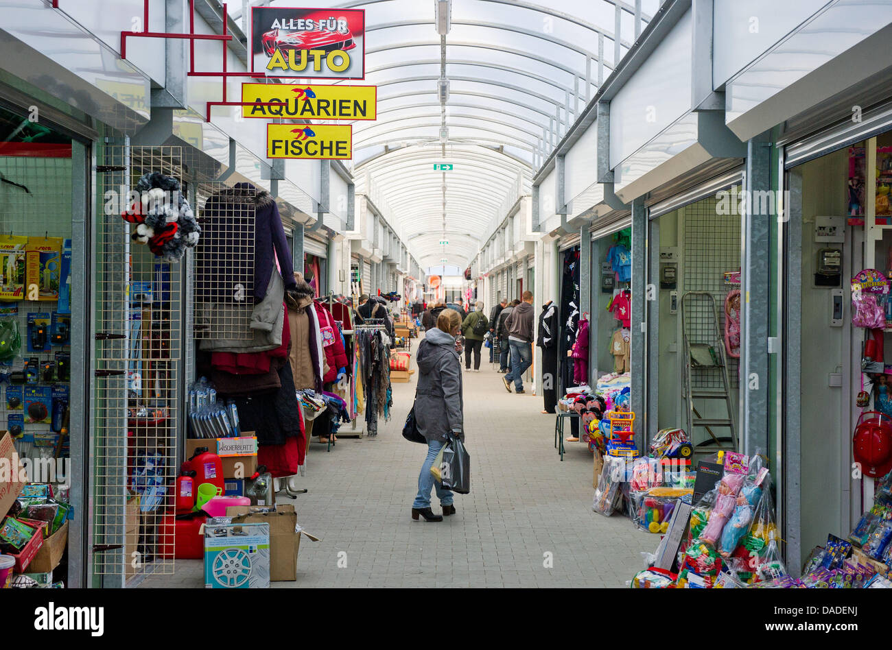
<svg viewBox="0 0 892 650"><path fill-rule="evenodd" d="M740 268L740 217L721 215L716 210L716 199L709 197L684 209L684 291L709 292L718 306L718 329L724 331L725 296L731 286L724 283L726 271ZM709 300L692 300L688 319L691 343L714 345L715 316ZM736 358L727 358L728 375L732 388L739 386ZM722 387L720 369L704 369L691 376L694 388Z"/></svg>

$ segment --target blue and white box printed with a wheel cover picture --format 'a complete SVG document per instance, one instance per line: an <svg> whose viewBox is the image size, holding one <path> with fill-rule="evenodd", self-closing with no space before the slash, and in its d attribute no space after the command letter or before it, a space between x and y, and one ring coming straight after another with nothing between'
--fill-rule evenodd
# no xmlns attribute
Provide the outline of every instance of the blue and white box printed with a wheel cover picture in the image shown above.
<svg viewBox="0 0 892 650"><path fill-rule="evenodd" d="M269 524L209 519L204 524L204 587L268 588Z"/></svg>

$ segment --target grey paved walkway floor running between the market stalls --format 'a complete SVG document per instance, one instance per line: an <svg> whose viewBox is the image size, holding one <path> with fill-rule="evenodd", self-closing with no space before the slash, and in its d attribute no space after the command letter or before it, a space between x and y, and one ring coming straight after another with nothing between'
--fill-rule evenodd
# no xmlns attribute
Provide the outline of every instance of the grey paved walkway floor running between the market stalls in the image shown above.
<svg viewBox="0 0 892 650"><path fill-rule="evenodd" d="M309 493L293 503L301 526L322 541L304 538L298 580L273 587L624 587L631 580L657 536L624 516L592 512L591 454L568 443L561 463L554 416L540 413L541 397L508 394L486 360L480 373L464 374L472 490L456 497L458 514L437 523L409 517L425 456L400 433L414 374L393 384L392 420L376 438L341 438L330 453L311 445L301 478ZM150 576L143 586L202 587L202 562L178 561L173 575Z"/></svg>

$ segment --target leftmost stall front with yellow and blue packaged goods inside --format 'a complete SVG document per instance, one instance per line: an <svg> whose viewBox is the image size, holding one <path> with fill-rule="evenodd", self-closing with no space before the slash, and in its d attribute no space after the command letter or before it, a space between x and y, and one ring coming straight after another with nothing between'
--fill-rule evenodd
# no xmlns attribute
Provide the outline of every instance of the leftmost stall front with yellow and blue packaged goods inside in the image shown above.
<svg viewBox="0 0 892 650"><path fill-rule="evenodd" d="M11 86L0 84L0 457L4 485L19 479L0 498L4 565L14 558L4 573L15 572L19 584L83 586L88 169L97 136L78 111L20 80L3 81Z"/></svg>

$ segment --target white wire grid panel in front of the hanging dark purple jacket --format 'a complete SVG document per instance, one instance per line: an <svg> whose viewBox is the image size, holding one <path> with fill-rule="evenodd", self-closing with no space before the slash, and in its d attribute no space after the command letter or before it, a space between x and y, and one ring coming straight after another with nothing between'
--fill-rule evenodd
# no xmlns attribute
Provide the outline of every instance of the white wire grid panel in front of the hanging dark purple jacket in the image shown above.
<svg viewBox="0 0 892 650"><path fill-rule="evenodd" d="M256 188L200 183L195 201L202 238L194 255L194 337L252 339Z"/></svg>

